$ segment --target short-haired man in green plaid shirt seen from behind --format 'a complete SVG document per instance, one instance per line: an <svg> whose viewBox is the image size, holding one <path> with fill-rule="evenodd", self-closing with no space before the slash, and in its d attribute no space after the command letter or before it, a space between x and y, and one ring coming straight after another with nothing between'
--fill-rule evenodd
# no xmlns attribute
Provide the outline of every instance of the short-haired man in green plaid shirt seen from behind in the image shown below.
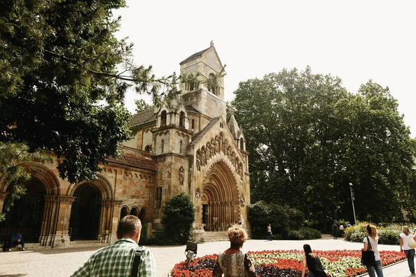
<svg viewBox="0 0 416 277"><path fill-rule="evenodd" d="M72 277L130 277L139 243L141 222L134 215L120 220L114 244L98 249ZM155 257L150 249L143 247L137 276L156 277Z"/></svg>

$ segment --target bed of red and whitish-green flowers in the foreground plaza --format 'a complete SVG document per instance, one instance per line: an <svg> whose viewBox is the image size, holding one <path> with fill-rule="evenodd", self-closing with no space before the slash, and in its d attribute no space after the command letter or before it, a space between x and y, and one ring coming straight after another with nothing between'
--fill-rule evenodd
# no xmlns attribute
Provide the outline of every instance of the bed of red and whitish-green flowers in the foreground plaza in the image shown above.
<svg viewBox="0 0 416 277"><path fill-rule="evenodd" d="M257 251L248 252L258 276L299 277L302 272L303 251ZM331 277L352 277L367 271L361 265L360 250L315 251ZM380 251L383 266L406 259L404 253ZM180 262L171 271L173 277L212 276L216 255L196 258L189 263Z"/></svg>

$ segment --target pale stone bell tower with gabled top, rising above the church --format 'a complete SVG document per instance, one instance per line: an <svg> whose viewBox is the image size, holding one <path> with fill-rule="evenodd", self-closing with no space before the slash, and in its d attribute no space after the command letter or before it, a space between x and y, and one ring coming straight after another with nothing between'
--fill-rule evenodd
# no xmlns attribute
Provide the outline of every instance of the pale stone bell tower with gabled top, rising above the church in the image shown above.
<svg viewBox="0 0 416 277"><path fill-rule="evenodd" d="M191 107L200 114L198 118L191 118L191 120L198 120L198 127L194 124L196 131L205 128L212 118L218 116L226 117L224 78L218 78L215 87L210 82L206 82L209 78L214 79L222 71L223 64L218 57L214 42L210 43L209 48L195 53L180 62L181 74L192 74L195 76L198 73L200 74L198 80L202 81L198 87L192 82L181 84L182 98L185 105L187 108Z"/></svg>

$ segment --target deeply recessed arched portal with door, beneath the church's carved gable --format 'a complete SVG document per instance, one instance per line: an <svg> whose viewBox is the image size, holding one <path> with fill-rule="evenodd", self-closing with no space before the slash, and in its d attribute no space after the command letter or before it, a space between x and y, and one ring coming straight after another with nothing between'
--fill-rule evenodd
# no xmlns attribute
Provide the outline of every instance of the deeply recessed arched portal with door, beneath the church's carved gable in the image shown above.
<svg viewBox="0 0 416 277"><path fill-rule="evenodd" d="M225 231L239 222L239 192L231 170L218 162L209 170L202 188L202 224L205 231Z"/></svg>

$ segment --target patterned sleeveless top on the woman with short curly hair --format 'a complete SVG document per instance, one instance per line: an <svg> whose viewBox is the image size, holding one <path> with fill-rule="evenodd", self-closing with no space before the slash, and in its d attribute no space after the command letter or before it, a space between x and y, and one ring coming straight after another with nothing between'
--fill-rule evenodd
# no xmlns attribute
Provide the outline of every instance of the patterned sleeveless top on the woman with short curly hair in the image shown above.
<svg viewBox="0 0 416 277"><path fill-rule="evenodd" d="M247 253L241 250L234 254L221 252L218 254L212 275L221 277L223 274L225 277L255 277L256 270Z"/></svg>

